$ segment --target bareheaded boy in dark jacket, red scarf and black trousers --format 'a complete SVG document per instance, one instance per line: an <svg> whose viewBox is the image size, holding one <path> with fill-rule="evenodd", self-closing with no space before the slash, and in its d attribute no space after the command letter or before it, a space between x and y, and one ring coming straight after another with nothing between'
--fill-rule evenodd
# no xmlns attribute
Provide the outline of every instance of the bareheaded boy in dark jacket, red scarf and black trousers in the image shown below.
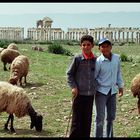
<svg viewBox="0 0 140 140"><path fill-rule="evenodd" d="M74 97L69 137L90 137L92 108L95 94L95 57L93 37L84 35L80 41L81 54L74 57L67 70L68 85Z"/></svg>

